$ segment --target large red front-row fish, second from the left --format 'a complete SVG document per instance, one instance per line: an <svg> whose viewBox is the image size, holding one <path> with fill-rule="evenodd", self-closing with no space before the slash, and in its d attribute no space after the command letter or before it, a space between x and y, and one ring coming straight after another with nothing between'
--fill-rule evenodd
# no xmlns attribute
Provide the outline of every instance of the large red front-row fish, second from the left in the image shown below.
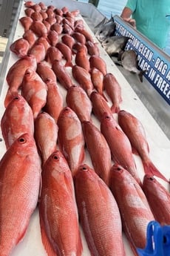
<svg viewBox="0 0 170 256"><path fill-rule="evenodd" d="M39 215L47 255L81 256L82 242L72 173L60 151L49 157L42 171Z"/></svg>

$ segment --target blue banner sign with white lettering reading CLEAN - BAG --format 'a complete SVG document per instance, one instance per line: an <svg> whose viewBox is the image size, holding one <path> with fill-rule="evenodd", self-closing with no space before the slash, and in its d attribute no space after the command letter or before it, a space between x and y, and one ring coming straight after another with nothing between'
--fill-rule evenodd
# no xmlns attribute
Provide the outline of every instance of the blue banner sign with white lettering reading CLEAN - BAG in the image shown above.
<svg viewBox="0 0 170 256"><path fill-rule="evenodd" d="M144 76L170 105L170 56L154 45L119 16L114 16L115 35L129 36L126 50L137 53L138 67L146 70Z"/></svg>

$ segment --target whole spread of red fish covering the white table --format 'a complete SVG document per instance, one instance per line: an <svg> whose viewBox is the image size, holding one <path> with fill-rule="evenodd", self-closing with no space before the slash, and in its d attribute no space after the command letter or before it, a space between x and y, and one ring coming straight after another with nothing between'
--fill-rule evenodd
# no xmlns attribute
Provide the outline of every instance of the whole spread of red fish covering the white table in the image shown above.
<svg viewBox="0 0 170 256"><path fill-rule="evenodd" d="M143 125L120 109L121 87L79 10L33 1L24 7L1 117L1 255L24 237L36 207L47 255L82 255L79 221L91 255L126 255L122 228L137 255L149 221L170 224L170 211L157 210L169 193L154 176L167 179L149 157Z"/></svg>

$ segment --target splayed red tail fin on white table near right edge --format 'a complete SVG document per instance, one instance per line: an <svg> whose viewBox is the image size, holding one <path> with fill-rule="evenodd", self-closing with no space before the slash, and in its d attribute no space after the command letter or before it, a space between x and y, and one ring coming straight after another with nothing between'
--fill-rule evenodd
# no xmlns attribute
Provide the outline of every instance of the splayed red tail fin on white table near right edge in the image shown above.
<svg viewBox="0 0 170 256"><path fill-rule="evenodd" d="M157 168L151 161L143 162L143 168L145 174L149 175L150 177L157 176L160 179L163 179L169 183L169 180L167 180L166 177L164 177L163 174L161 174L160 171L157 170Z"/></svg>

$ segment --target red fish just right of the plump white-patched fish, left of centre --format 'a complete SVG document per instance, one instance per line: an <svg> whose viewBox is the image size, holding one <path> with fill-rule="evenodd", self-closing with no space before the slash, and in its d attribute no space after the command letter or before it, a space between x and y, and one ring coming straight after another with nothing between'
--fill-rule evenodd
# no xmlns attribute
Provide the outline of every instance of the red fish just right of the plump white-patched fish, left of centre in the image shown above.
<svg viewBox="0 0 170 256"><path fill-rule="evenodd" d="M56 82L53 82L50 79L46 80L47 85L47 102L44 105L44 111L47 111L50 116L55 119L55 122L58 122L58 116L61 113L61 110L64 107L64 99L61 95L60 89Z"/></svg>

